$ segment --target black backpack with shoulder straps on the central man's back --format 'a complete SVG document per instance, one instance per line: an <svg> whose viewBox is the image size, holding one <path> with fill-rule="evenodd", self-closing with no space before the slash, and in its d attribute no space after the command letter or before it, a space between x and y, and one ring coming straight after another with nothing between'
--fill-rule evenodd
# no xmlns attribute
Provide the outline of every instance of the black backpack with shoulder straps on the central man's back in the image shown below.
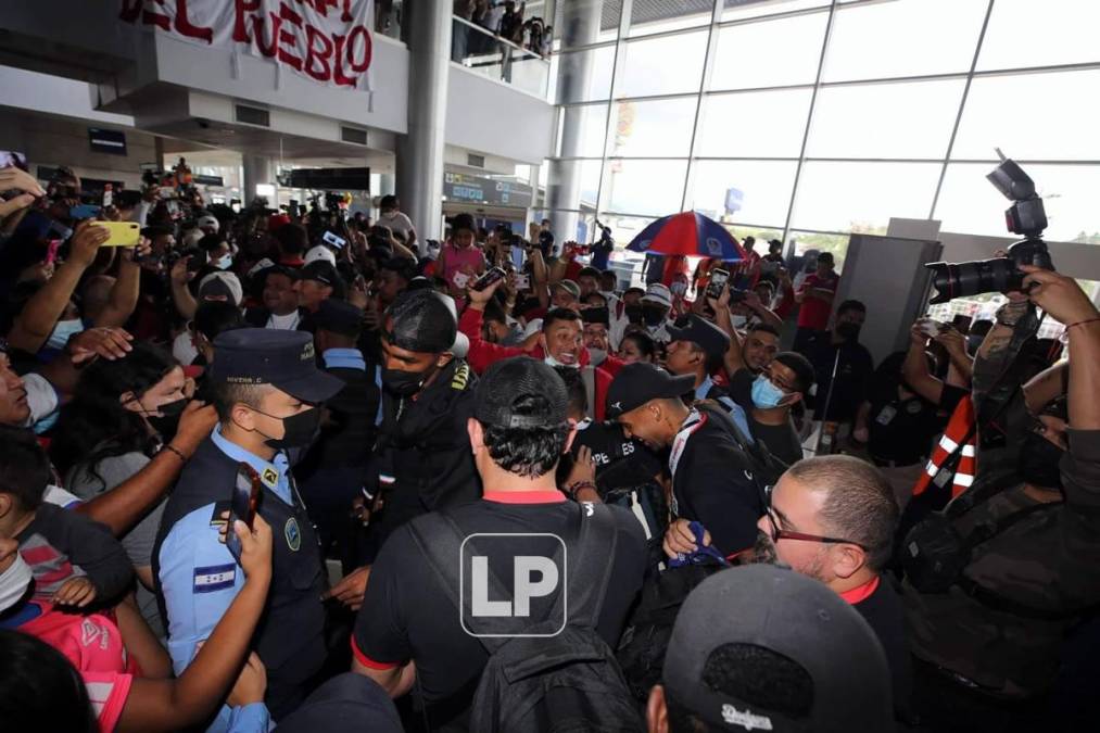
<svg viewBox="0 0 1100 733"><path fill-rule="evenodd" d="M637 733L645 730L610 647L595 625L614 566L618 532L612 511L600 504L578 508L580 533L568 554L582 558L566 584L569 616L554 636L477 637L490 653L474 693L470 730L477 733ZM410 525L417 543L455 609L465 533L446 514L432 513ZM499 581L490 573L490 582ZM496 591L501 593L499 590ZM497 595L501 598L502 595ZM469 613L469 602L466 608ZM561 613L561 595L550 619ZM552 634L560 624L541 621L530 634ZM430 723L430 721L429 721Z"/></svg>

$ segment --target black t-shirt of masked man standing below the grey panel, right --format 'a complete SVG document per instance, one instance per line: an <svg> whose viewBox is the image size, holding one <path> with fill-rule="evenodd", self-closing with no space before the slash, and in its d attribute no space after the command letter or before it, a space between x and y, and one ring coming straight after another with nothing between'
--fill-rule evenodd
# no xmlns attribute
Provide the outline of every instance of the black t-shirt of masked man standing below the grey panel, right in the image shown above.
<svg viewBox="0 0 1100 733"><path fill-rule="evenodd" d="M837 360L839 351L839 360ZM833 344L832 331L814 333L803 353L814 365L817 394L814 396L814 419L822 419L825 401L829 401L828 415L824 419L850 423L862 404L867 384L875 368L871 352L856 341ZM833 384L833 368L836 366L836 383ZM832 397L829 386L832 385Z"/></svg>

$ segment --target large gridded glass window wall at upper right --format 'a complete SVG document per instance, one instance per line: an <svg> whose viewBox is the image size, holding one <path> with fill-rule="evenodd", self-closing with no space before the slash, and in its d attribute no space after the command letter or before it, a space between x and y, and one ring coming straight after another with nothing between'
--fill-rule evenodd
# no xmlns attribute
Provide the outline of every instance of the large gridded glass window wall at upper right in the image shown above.
<svg viewBox="0 0 1100 733"><path fill-rule="evenodd" d="M1048 239L1100 243L1100 3L1035 4L558 2L556 28L564 6L574 23L556 35L566 160L540 174L575 173L553 206L615 218L620 244L694 208L843 259L849 232L891 217L1007 236L986 180L999 146L1045 197Z"/></svg>

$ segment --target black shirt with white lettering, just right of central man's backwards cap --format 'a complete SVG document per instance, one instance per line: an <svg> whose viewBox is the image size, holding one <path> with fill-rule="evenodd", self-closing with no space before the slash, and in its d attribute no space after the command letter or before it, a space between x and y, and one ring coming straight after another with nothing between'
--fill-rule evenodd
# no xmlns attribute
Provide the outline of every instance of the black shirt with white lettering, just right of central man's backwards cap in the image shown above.
<svg viewBox="0 0 1100 733"><path fill-rule="evenodd" d="M640 440L627 438L618 423L587 423L578 426L569 456L558 466L558 484L562 485L581 446L592 451L596 463L596 488L602 497L616 489L635 489L653 482L664 467L663 461Z"/></svg>

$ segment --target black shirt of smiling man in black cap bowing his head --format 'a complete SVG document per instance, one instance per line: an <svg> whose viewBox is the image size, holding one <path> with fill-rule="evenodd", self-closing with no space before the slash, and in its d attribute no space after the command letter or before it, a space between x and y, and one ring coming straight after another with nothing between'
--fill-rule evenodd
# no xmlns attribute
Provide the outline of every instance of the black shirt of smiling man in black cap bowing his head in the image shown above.
<svg viewBox="0 0 1100 733"><path fill-rule="evenodd" d="M673 513L700 522L723 555L735 555L756 543L763 496L751 460L722 418L701 414L704 422L684 444L673 473Z"/></svg>

